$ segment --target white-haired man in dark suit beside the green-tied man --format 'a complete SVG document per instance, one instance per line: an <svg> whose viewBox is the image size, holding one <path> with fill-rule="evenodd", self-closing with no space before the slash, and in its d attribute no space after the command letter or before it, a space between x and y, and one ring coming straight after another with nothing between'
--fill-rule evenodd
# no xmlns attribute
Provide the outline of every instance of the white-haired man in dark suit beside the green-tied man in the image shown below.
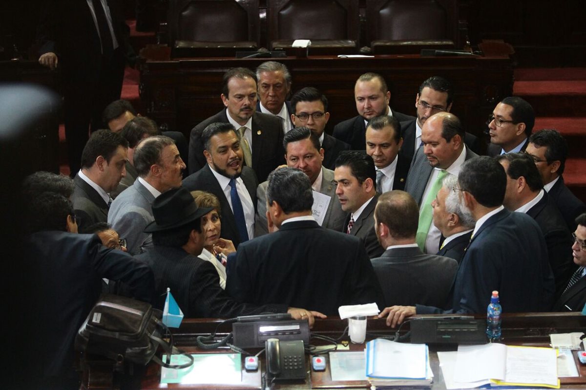
<svg viewBox="0 0 586 390"><path fill-rule="evenodd" d="M434 226L445 237L437 255L453 258L460 264L466 247L470 243L476 221L458 201L458 193L455 191L457 185L458 178L456 176L448 175L445 177L442 181L442 188L438 191L434 201L431 202L431 207L434 212Z"/></svg>

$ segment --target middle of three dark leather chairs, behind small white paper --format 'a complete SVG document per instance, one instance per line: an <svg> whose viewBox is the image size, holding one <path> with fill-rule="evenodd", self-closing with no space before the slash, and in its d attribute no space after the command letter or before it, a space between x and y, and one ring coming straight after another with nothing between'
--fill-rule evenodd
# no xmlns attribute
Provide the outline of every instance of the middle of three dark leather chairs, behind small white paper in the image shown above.
<svg viewBox="0 0 586 390"><path fill-rule="evenodd" d="M359 40L358 0L269 0L268 42L272 49L309 39L309 54L355 54Z"/></svg>

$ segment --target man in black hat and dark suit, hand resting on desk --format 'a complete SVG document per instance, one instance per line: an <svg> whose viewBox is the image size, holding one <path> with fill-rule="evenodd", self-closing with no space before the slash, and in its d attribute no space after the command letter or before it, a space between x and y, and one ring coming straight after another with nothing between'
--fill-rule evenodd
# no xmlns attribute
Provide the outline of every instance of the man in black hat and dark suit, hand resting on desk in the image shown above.
<svg viewBox="0 0 586 390"><path fill-rule="evenodd" d="M155 275L155 308L163 309L165 292L170 288L187 318L289 312L296 319L309 317L311 325L314 315L323 316L280 303L260 306L230 298L220 287L220 277L213 264L197 257L206 239L202 232L202 216L210 211L212 208L197 208L193 196L185 188L170 189L153 202L155 220L145 231L152 234L155 246L137 258L149 264ZM251 299L244 296L243 301L251 302Z"/></svg>

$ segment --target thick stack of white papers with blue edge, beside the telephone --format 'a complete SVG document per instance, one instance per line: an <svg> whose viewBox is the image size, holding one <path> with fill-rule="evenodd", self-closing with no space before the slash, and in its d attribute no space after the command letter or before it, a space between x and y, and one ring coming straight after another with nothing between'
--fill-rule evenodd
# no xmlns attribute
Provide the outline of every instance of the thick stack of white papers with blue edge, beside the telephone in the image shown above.
<svg viewBox="0 0 586 390"><path fill-rule="evenodd" d="M433 378L425 344L376 339L366 343L366 378L373 389L429 388Z"/></svg>

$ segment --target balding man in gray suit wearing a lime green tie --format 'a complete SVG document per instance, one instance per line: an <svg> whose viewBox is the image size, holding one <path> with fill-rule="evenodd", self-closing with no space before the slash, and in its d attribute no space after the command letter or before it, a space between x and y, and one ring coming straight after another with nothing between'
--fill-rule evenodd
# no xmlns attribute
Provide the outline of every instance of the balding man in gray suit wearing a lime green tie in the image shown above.
<svg viewBox="0 0 586 390"><path fill-rule="evenodd" d="M476 153L464 144L462 123L453 114L440 112L430 116L421 129L423 146L417 150L407 175L407 191L419 205L417 244L424 253L440 249L440 230L432 223L431 202L446 175L457 176L465 160Z"/></svg>

